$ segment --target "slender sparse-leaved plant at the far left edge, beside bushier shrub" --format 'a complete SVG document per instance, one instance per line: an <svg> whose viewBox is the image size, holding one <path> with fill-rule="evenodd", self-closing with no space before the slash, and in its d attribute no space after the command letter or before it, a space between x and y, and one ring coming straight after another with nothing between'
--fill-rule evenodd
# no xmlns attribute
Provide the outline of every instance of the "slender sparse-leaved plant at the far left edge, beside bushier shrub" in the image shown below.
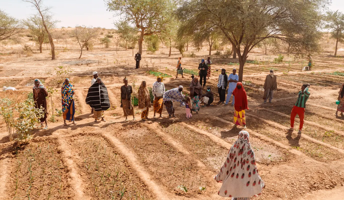
<svg viewBox="0 0 344 200"><path fill-rule="evenodd" d="M0 115L2 116L3 120L6 123L6 129L10 141L13 141L14 135L14 107L13 102L9 98L2 98L0 99Z"/></svg>

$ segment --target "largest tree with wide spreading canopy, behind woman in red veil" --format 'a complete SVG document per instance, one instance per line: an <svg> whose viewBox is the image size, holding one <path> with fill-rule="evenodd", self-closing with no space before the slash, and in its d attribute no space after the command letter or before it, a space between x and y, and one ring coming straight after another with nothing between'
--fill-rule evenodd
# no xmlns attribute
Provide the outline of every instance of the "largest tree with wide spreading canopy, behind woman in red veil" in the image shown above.
<svg viewBox="0 0 344 200"><path fill-rule="evenodd" d="M239 60L239 81L248 53L269 38L289 42L296 56L319 50L321 9L329 0L184 0L178 8L181 29L207 27L221 32Z"/></svg>

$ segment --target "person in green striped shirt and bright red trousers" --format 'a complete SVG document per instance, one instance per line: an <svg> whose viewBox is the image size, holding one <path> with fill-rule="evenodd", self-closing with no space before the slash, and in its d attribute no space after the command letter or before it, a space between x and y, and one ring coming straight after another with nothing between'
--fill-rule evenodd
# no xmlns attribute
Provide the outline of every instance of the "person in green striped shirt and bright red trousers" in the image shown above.
<svg viewBox="0 0 344 200"><path fill-rule="evenodd" d="M296 101L290 114L290 128L287 130L291 130L291 131L294 130L294 120L295 120L296 114L298 114L300 118L300 128L299 128L298 136L301 136L301 130L303 127L303 118L304 118L304 112L305 112L304 109L306 107L306 102L309 98L309 95L311 94L308 92L308 88L310 86L311 86L310 84L302 85L301 90L299 92L298 100Z"/></svg>

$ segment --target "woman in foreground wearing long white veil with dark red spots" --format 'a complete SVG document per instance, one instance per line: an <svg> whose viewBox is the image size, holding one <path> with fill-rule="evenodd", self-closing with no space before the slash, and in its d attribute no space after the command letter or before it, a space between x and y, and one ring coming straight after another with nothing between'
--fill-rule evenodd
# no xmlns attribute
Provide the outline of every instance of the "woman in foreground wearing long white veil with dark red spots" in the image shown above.
<svg viewBox="0 0 344 200"><path fill-rule="evenodd" d="M259 176L255 153L249 139L247 131L239 132L239 137L230 147L224 165L214 177L217 182L223 182L217 192L219 196L231 197L232 200L250 200L253 196L260 196L265 187Z"/></svg>

